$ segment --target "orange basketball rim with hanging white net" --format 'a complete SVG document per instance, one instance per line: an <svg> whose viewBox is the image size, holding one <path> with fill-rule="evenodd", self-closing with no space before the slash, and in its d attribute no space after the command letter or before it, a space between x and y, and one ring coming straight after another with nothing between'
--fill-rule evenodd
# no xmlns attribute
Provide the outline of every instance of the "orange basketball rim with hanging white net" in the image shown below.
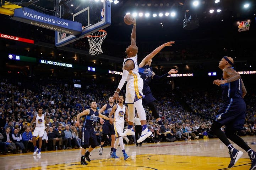
<svg viewBox="0 0 256 170"><path fill-rule="evenodd" d="M106 38L106 35L107 35L107 32L103 29L100 29L95 33L87 35L87 38L90 44L89 53L91 55L102 53L101 44L102 44L102 41Z"/></svg>

